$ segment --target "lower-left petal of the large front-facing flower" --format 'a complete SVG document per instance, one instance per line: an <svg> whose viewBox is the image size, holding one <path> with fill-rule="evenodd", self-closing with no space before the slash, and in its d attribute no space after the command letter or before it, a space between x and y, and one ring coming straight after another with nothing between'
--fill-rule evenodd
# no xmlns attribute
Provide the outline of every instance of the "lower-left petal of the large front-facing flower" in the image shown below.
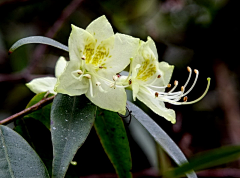
<svg viewBox="0 0 240 178"><path fill-rule="evenodd" d="M72 72L79 70L79 64L75 61L69 61L65 71L58 78L55 86L57 93L68 94L70 96L76 96L86 93L89 83L85 77L82 80L78 80L73 77Z"/></svg>

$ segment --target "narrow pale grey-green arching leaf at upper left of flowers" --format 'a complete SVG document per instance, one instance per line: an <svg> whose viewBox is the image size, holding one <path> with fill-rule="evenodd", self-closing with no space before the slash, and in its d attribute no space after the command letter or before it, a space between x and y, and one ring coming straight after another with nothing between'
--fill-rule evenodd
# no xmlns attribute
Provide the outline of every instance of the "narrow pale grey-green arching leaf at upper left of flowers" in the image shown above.
<svg viewBox="0 0 240 178"><path fill-rule="evenodd" d="M46 44L46 45L54 46L56 48L59 48L59 49L62 49L64 51L68 52L67 46L65 46L51 38L47 38L44 36L30 36L30 37L22 38L22 39L18 40L16 43L14 43L11 46L11 48L9 49L9 53L12 53L13 51L15 51L17 48L19 48L22 45L31 44L31 43Z"/></svg>

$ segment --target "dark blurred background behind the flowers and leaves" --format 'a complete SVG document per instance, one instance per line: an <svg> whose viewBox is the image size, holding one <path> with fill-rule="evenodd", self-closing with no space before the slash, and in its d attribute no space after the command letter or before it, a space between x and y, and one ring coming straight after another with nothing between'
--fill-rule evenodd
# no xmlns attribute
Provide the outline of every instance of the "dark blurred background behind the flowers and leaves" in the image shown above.
<svg viewBox="0 0 240 178"><path fill-rule="evenodd" d="M36 44L22 46L8 55L14 42L39 35L67 45L71 24L86 28L92 20L106 15L115 32L144 41L147 36L153 38L159 61L175 66L171 83L185 83L187 66L199 70L189 101L202 95L206 79L211 77L210 90L200 102L167 104L177 113L175 125L137 102L188 158L223 145L240 144L239 7L238 0L0 0L0 119L24 109L34 96L26 82L53 76L58 57L68 58L64 51ZM157 177L157 168L172 164L141 126L133 121L126 127L135 177ZM94 130L76 157L82 161L71 170L80 172L78 175L114 177L114 169ZM240 177L239 163L211 168L198 175Z"/></svg>

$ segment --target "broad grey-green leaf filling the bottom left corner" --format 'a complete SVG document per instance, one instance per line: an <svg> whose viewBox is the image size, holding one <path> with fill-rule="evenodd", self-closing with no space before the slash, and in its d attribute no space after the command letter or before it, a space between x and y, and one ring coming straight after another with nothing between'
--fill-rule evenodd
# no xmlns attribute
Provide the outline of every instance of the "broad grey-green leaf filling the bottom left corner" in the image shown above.
<svg viewBox="0 0 240 178"><path fill-rule="evenodd" d="M16 132L0 126L0 177L49 178L36 152Z"/></svg>

